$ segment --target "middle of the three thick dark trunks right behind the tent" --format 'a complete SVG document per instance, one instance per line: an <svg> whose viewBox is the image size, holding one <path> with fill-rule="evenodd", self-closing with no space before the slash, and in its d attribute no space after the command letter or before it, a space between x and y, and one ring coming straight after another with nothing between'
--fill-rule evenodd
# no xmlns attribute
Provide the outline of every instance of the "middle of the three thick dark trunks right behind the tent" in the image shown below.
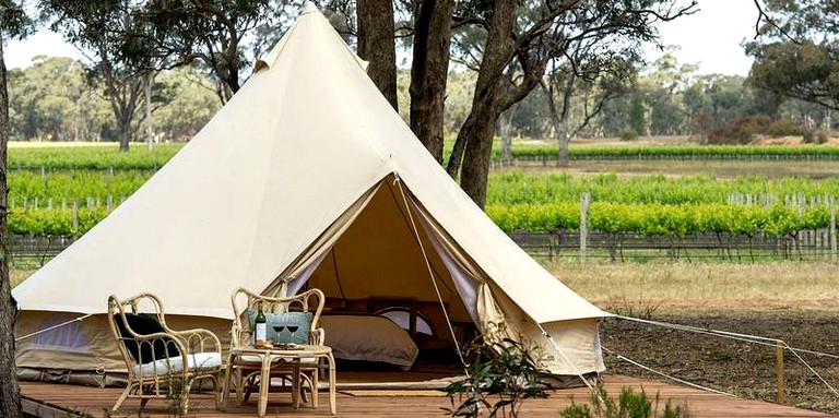
<svg viewBox="0 0 839 418"><path fill-rule="evenodd" d="M414 11L411 67L411 130L442 163L442 122L449 72L452 0L423 0Z"/></svg>

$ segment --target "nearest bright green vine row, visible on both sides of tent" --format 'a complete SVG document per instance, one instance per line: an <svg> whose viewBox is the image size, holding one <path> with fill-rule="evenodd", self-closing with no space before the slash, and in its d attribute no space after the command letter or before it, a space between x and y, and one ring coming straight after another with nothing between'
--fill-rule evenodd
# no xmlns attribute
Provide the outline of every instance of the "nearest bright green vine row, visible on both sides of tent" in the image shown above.
<svg viewBox="0 0 839 418"><path fill-rule="evenodd" d="M72 236L86 232L122 199L87 199L54 204L34 201L11 206L9 230L34 236ZM571 203L492 204L487 215L506 232L578 230L582 226L607 234L685 237L693 234L755 236L794 235L800 230L836 225L832 195L805 199L802 195L772 199L771 205L741 203L626 204L593 201ZM755 200L757 203L757 200ZM584 215L584 216L583 216ZM581 220L584 219L584 220ZM581 224L584 222L584 224Z"/></svg>

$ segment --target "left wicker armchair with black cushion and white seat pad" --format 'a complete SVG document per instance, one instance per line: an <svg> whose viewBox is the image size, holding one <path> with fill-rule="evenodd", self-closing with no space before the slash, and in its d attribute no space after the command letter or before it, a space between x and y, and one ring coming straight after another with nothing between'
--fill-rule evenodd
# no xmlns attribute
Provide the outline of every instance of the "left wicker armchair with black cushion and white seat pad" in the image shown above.
<svg viewBox="0 0 839 418"><path fill-rule="evenodd" d="M212 382L215 408L220 407L222 353L215 334L203 329L169 329L161 300L151 294L125 300L110 296L108 322L128 369L128 386L113 411L130 397L140 399L140 408L152 398L175 401L186 414L190 390L201 380Z"/></svg>

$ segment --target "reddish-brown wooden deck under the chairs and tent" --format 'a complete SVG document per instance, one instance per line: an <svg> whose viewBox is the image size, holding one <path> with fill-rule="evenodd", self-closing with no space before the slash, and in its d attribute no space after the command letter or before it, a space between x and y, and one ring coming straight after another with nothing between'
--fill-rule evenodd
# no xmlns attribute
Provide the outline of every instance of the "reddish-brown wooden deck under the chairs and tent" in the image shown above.
<svg viewBox="0 0 839 418"><path fill-rule="evenodd" d="M746 401L736 397L717 395L695 389L672 384L642 381L639 379L606 375L603 380L610 395L615 396L622 387L643 389L649 396L660 394L661 399L671 399L674 404L686 405L694 418L722 417L829 417L806 409L775 405L764 402ZM98 389L55 383L21 382L24 411L43 418L67 418L74 416L105 417L119 397L120 389ZM327 396L321 396L318 409L302 406L293 409L287 394L272 394L268 405L268 417L311 417L329 416ZM589 392L586 387L556 391L547 399L527 399L520 416L559 417L559 410L576 403L586 403ZM213 408L213 398L209 394L196 394L190 397L193 409L189 416L206 418L233 418L256 416L257 405L253 398L243 406L231 403L225 413ZM407 389L354 389L339 386L339 417L381 418L381 417L442 417L441 408L450 407L449 399L439 391ZM137 401L126 401L122 409L114 417L172 417L166 410L166 402L152 401L138 411ZM663 405L662 405L663 407ZM69 414L70 413L70 414ZM85 415L86 414L86 415Z"/></svg>

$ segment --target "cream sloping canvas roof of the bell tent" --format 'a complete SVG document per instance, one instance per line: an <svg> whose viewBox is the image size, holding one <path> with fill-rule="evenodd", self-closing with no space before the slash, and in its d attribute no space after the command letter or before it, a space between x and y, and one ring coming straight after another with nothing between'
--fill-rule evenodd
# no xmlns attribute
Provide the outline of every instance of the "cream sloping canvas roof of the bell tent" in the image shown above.
<svg viewBox="0 0 839 418"><path fill-rule="evenodd" d="M395 172L534 321L608 315L565 287L425 151L308 3L256 73L107 218L13 290L24 310L106 312L109 295L231 318L362 193Z"/></svg>

